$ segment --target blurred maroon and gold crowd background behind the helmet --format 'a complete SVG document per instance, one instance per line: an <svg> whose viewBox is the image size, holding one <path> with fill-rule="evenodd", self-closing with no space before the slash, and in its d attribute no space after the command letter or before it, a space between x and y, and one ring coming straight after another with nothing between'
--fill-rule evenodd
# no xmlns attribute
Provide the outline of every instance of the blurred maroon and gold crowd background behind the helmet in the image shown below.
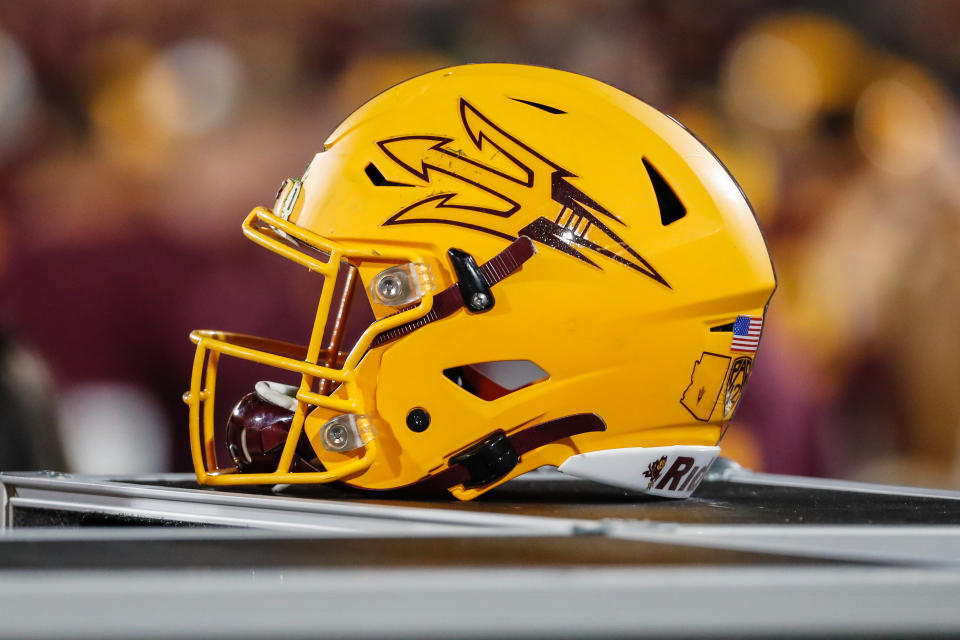
<svg viewBox="0 0 960 640"><path fill-rule="evenodd" d="M312 319L243 216L380 90L508 61L666 111L751 199L780 284L727 455L960 488L958 33L949 0L4 2L0 469L188 470L187 332Z"/></svg>

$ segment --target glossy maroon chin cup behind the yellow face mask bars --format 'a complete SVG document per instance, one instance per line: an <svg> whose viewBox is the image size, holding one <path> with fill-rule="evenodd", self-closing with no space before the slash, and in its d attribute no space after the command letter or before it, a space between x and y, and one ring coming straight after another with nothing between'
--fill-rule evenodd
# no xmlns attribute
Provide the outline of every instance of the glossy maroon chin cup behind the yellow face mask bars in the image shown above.
<svg viewBox="0 0 960 640"><path fill-rule="evenodd" d="M227 449L241 473L270 473L277 470L283 445L290 433L293 412L248 393L227 419ZM291 471L321 471L313 447L300 434Z"/></svg>

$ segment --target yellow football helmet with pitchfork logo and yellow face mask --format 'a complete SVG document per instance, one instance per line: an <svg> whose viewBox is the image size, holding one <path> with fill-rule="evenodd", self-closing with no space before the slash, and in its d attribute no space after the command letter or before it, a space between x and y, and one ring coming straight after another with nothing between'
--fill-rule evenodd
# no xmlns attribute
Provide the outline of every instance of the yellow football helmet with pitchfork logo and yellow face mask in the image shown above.
<svg viewBox="0 0 960 640"><path fill-rule="evenodd" d="M775 286L743 192L702 142L611 86L521 65L381 93L243 232L323 286L303 346L191 334L184 399L209 485L471 499L554 466L687 496ZM257 383L218 424L223 356L293 384Z"/></svg>

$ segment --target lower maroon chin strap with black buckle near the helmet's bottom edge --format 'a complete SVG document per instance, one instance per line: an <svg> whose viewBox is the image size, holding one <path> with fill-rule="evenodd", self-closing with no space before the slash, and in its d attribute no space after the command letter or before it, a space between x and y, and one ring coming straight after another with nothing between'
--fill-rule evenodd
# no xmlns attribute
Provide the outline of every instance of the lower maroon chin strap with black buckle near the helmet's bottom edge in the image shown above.
<svg viewBox="0 0 960 640"><path fill-rule="evenodd" d="M607 425L595 413L576 413L506 435L503 431L491 434L464 452L450 458L450 465L432 476L404 487L431 492L450 489L482 487L496 482L513 471L520 456L538 447L590 431L606 431Z"/></svg>

